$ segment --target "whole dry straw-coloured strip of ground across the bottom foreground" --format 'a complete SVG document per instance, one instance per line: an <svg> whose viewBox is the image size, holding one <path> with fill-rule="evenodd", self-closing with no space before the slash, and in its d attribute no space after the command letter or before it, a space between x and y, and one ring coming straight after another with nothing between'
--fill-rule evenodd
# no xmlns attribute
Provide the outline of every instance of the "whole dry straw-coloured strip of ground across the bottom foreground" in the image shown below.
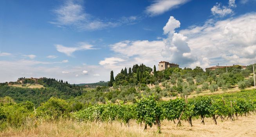
<svg viewBox="0 0 256 137"><path fill-rule="evenodd" d="M193 127L185 121L182 126L176 128L173 121L162 121L162 133L156 133L156 126L148 128L131 122L130 127L114 123L84 123L71 120L60 120L59 122L40 122L34 126L27 125L25 128L9 128L0 133L1 137L255 137L256 115L251 114L239 117L238 120L217 119L215 125L211 118L205 119L205 125L200 120L193 120ZM36 126L35 126L36 124Z"/></svg>

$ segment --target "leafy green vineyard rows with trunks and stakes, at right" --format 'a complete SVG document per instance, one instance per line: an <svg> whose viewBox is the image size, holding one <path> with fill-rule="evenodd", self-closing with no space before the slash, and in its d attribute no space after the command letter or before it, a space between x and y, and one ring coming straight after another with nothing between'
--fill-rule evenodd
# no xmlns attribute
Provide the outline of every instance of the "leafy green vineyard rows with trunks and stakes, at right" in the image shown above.
<svg viewBox="0 0 256 137"><path fill-rule="evenodd" d="M161 132L161 121L173 121L177 126L188 122L193 126L193 119L211 117L221 121L230 119L235 121L239 116L247 116L256 110L256 90L242 90L233 94L199 96L191 99L177 98L169 101L158 101L155 96L143 97L134 104L110 103L96 104L74 113L73 117L79 121L106 122L119 121L129 126L131 120L144 124L144 130L153 124L157 125L157 132Z"/></svg>

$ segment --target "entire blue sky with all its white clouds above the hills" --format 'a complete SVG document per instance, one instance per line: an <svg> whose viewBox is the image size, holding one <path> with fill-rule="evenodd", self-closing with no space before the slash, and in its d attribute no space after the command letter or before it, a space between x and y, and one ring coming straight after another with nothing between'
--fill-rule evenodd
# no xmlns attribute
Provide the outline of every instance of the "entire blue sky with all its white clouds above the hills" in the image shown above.
<svg viewBox="0 0 256 137"><path fill-rule="evenodd" d="M1 0L0 82L256 62L256 0Z"/></svg>

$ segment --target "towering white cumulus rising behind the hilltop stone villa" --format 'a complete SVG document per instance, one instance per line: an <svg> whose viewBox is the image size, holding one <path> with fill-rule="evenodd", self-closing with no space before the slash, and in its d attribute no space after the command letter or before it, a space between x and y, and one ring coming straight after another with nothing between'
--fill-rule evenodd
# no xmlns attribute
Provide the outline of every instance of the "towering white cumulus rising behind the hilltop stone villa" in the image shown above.
<svg viewBox="0 0 256 137"><path fill-rule="evenodd" d="M144 63L153 67L159 61L173 61L181 63L185 66L195 61L195 56L190 53L190 49L186 43L187 38L180 33L176 33L175 29L180 27L180 22L171 16L163 27L164 34L167 38L161 38L157 41L137 40L137 41L120 41L110 48L122 58L112 57L105 58L100 61L100 65L105 68L123 68L132 67L133 64ZM119 70L118 70L119 71Z"/></svg>

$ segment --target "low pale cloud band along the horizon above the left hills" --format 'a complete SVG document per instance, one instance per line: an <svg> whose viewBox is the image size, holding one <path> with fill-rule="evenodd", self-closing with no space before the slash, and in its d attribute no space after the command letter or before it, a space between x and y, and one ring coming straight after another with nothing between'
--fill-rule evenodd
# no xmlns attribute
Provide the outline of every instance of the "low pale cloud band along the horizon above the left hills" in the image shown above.
<svg viewBox="0 0 256 137"><path fill-rule="evenodd" d="M0 64L4 64L0 67L0 83L6 81L16 81L17 78L20 77L46 77L63 79L63 81L68 81L70 84L94 83L102 80L108 81L111 71L110 69L103 68L101 65L63 66L60 64L60 62L43 62L30 59L13 61L0 60ZM80 76L76 77L76 75L81 74L83 70L87 70L91 74L100 74L100 77L90 74L87 75L86 79Z"/></svg>

